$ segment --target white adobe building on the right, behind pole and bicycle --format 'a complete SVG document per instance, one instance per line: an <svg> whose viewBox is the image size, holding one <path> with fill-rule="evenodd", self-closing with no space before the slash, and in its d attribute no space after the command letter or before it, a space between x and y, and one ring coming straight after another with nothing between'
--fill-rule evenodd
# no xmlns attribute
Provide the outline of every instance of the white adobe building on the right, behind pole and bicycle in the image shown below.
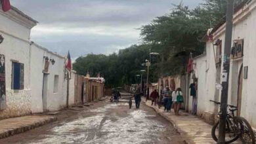
<svg viewBox="0 0 256 144"><path fill-rule="evenodd" d="M245 1L235 10L230 55L230 80L228 103L238 106L238 113L256 128L256 1ZM219 106L209 100L220 101L221 90L216 83L224 81L223 53L225 22L211 32L213 41L206 41L206 53L194 58L194 70L198 78L198 115L214 119ZM191 103L190 103L191 109Z"/></svg>

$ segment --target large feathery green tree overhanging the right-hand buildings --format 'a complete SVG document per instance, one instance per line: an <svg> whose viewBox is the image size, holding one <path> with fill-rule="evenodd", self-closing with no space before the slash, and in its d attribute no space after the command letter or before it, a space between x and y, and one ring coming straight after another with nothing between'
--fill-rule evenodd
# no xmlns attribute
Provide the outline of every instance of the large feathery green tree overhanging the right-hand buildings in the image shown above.
<svg viewBox="0 0 256 144"><path fill-rule="evenodd" d="M205 0L195 9L178 5L165 16L155 18L150 24L141 27L144 43L159 45L160 63L163 75L184 74L190 52L202 54L204 44L200 38L207 29L216 25L224 16L224 0Z"/></svg>

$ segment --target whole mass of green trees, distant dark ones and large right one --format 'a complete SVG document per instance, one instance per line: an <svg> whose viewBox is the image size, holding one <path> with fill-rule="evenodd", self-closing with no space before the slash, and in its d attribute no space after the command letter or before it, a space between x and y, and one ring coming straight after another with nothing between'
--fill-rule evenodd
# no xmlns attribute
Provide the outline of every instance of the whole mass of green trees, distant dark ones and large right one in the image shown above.
<svg viewBox="0 0 256 144"><path fill-rule="evenodd" d="M225 0L205 0L195 9L176 5L169 14L159 16L140 28L142 45L132 45L119 50L116 54L88 54L77 58L74 69L81 75L87 72L91 76L97 73L106 79L109 87L122 86L139 82L141 64L152 52L160 56L152 56L150 81L156 82L163 75L184 74L190 52L202 54L204 44L200 42L207 29L218 24L226 9Z"/></svg>

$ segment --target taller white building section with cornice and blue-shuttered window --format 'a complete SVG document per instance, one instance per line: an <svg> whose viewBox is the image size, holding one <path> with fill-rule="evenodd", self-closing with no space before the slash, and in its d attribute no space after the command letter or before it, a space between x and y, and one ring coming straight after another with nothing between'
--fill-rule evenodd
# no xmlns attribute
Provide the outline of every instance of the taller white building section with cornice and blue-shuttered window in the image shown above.
<svg viewBox="0 0 256 144"><path fill-rule="evenodd" d="M0 54L5 56L5 89L1 92L0 118L14 117L31 113L32 90L30 88L30 30L37 22L26 16L20 10L12 7L8 12L0 10L0 35L3 43ZM1 60L3 61L3 60ZM14 86L13 67L17 64L17 77L22 77ZM19 65L22 63L22 65ZM20 72L20 75L18 75ZM3 86L1 84L1 86ZM15 88L14 88L15 87Z"/></svg>

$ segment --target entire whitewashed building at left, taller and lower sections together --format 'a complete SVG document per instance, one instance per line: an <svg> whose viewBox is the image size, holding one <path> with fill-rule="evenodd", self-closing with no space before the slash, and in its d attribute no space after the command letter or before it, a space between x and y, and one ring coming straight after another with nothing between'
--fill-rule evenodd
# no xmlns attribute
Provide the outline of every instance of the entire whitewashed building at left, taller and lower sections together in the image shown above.
<svg viewBox="0 0 256 144"><path fill-rule="evenodd" d="M0 119L66 105L65 58L30 41L36 24L15 7L0 10Z"/></svg>

